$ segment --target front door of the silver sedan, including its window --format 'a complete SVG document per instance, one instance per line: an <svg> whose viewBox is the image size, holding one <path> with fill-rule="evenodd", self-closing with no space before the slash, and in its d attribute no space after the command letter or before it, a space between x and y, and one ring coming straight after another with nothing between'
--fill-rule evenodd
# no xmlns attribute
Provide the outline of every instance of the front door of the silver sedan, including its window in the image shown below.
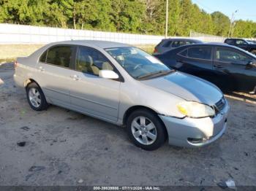
<svg viewBox="0 0 256 191"><path fill-rule="evenodd" d="M80 112L116 122L121 82L99 77L99 70L116 71L115 67L102 52L83 46L77 48L75 65L70 87L72 106Z"/></svg>

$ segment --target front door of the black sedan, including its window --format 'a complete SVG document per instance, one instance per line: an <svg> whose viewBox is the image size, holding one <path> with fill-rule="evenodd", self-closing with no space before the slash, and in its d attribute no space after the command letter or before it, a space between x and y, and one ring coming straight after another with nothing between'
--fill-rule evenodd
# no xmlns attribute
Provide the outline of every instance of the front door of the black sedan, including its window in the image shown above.
<svg viewBox="0 0 256 191"><path fill-rule="evenodd" d="M229 47L214 49L214 71L217 79L227 90L252 91L256 85L256 68L249 66L255 62L244 52Z"/></svg>

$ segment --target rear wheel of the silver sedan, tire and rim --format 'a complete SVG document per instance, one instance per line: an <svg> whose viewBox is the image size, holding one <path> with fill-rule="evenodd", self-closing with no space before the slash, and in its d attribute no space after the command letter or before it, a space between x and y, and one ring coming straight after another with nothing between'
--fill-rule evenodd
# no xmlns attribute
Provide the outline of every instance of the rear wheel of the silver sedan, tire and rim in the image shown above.
<svg viewBox="0 0 256 191"><path fill-rule="evenodd" d="M42 111L48 108L45 95L35 82L31 82L26 87L26 98L29 102L29 106L31 106L31 109L34 109L35 111Z"/></svg>

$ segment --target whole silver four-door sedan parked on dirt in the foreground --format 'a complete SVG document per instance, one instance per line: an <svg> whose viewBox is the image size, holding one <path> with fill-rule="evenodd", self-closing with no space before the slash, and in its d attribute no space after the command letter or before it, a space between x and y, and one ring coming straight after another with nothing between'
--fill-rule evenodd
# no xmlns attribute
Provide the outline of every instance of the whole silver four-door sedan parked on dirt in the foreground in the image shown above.
<svg viewBox="0 0 256 191"><path fill-rule="evenodd" d="M14 79L25 87L32 109L54 104L126 125L129 138L143 149L157 149L166 139L201 147L226 130L229 106L215 85L127 44L48 44L18 58Z"/></svg>

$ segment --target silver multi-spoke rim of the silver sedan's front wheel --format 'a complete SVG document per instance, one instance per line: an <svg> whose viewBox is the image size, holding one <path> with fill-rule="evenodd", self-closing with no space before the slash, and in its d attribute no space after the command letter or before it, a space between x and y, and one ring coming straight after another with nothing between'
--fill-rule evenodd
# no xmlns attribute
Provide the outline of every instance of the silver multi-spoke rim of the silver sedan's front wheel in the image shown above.
<svg viewBox="0 0 256 191"><path fill-rule="evenodd" d="M144 145L153 144L157 139L157 128L147 117L136 117L132 121L132 135Z"/></svg>

